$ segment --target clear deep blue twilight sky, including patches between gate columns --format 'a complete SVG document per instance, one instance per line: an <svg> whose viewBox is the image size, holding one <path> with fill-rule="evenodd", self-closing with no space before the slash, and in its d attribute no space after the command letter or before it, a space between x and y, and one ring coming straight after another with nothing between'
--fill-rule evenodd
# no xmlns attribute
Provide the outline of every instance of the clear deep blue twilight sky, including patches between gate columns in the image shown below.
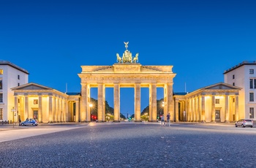
<svg viewBox="0 0 256 168"><path fill-rule="evenodd" d="M28 70L29 82L80 92L80 66L113 65L124 42L142 65L173 65L174 92L195 91L256 60L256 1L0 0L0 60ZM122 113L134 112L133 91L121 88Z"/></svg>

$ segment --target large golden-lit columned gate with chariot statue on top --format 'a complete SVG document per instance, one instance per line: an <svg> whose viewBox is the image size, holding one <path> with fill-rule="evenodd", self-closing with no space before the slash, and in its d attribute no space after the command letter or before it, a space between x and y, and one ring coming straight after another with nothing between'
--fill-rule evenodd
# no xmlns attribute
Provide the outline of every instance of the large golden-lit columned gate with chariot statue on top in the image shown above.
<svg viewBox="0 0 256 168"><path fill-rule="evenodd" d="M105 122L105 88L113 88L114 122L120 121L120 88L135 88L135 121L140 121L140 88L149 88L149 118L157 121L157 88L164 88L164 115L170 113L173 121L173 66L142 66L138 63L138 53L132 57L127 50L129 42L124 42L123 56L116 54L113 66L81 66L80 121L91 121L90 90L98 90L98 121Z"/></svg>

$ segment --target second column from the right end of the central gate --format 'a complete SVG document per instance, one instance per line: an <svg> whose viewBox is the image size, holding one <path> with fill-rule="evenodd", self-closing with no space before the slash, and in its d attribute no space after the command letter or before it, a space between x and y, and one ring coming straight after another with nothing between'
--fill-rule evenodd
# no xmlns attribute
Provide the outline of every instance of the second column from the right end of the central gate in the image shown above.
<svg viewBox="0 0 256 168"><path fill-rule="evenodd" d="M157 84L149 85L149 118L148 121L157 121Z"/></svg>

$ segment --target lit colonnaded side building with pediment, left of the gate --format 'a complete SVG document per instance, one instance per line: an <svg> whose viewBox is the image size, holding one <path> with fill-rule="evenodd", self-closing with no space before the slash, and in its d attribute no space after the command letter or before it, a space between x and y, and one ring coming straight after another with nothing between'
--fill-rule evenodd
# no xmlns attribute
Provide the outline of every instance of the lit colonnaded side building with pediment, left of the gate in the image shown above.
<svg viewBox="0 0 256 168"><path fill-rule="evenodd" d="M79 122L80 94L68 95L37 83L20 85L12 91L21 121L35 118L39 123Z"/></svg>

